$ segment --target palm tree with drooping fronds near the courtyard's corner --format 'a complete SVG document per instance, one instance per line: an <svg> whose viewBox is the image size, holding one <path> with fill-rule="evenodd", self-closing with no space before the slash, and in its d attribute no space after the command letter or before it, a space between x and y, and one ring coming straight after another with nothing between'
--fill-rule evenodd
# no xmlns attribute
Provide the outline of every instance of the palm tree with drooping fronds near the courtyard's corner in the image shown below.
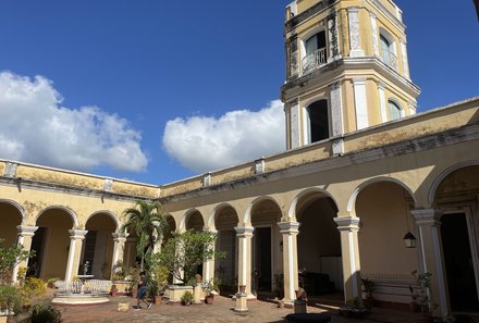
<svg viewBox="0 0 479 323"><path fill-rule="evenodd" d="M134 208L123 211L127 220L122 231L130 228L136 233L136 254L140 258L142 270L146 256L152 251L155 244L168 228L167 220L159 211L160 207L159 202L136 201Z"/></svg>

